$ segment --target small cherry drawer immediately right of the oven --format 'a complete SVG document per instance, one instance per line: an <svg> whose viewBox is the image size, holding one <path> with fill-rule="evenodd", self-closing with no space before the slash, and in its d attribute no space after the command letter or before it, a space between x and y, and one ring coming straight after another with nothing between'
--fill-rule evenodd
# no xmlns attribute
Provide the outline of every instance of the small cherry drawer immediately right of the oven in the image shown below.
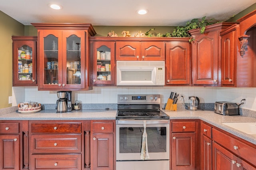
<svg viewBox="0 0 256 170"><path fill-rule="evenodd" d="M172 122L172 132L195 132L196 122Z"/></svg>

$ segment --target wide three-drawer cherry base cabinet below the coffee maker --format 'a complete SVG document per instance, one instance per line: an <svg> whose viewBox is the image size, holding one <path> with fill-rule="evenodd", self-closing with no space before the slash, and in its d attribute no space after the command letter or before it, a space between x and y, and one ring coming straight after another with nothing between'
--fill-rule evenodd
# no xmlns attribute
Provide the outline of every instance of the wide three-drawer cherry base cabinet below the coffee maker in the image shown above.
<svg viewBox="0 0 256 170"><path fill-rule="evenodd" d="M30 170L82 169L82 122L30 121Z"/></svg>

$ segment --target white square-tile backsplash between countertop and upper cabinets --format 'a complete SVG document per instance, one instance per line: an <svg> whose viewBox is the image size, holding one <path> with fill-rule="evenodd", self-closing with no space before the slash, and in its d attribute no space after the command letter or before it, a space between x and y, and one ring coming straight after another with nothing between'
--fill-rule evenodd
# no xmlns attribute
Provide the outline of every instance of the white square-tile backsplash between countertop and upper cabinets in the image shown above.
<svg viewBox="0 0 256 170"><path fill-rule="evenodd" d="M241 108L256 111L256 88L231 87L93 87L90 91L73 91L72 103L117 103L118 94L160 94L161 103L166 103L171 91L179 95L178 103L188 103L189 96L197 96L200 103L215 101L232 101L240 103L246 99ZM13 106L24 101L36 101L42 104L56 103L56 91L38 91L37 87L12 87Z"/></svg>

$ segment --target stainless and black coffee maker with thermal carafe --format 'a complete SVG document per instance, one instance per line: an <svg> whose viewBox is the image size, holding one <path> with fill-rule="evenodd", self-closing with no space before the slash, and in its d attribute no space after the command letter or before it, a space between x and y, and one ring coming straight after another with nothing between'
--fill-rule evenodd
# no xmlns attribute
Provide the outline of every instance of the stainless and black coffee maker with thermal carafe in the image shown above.
<svg viewBox="0 0 256 170"><path fill-rule="evenodd" d="M72 111L71 91L57 91L57 97L59 98L56 101L57 113Z"/></svg>

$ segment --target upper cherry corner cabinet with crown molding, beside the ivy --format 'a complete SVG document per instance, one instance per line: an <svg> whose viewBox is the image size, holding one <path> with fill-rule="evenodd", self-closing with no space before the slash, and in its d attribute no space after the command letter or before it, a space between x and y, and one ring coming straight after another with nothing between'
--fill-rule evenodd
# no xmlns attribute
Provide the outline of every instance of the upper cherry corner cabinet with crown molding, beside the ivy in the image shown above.
<svg viewBox="0 0 256 170"><path fill-rule="evenodd" d="M221 37L220 32L232 22L206 26L204 34L198 29L190 30L192 38L192 85L221 85Z"/></svg>

